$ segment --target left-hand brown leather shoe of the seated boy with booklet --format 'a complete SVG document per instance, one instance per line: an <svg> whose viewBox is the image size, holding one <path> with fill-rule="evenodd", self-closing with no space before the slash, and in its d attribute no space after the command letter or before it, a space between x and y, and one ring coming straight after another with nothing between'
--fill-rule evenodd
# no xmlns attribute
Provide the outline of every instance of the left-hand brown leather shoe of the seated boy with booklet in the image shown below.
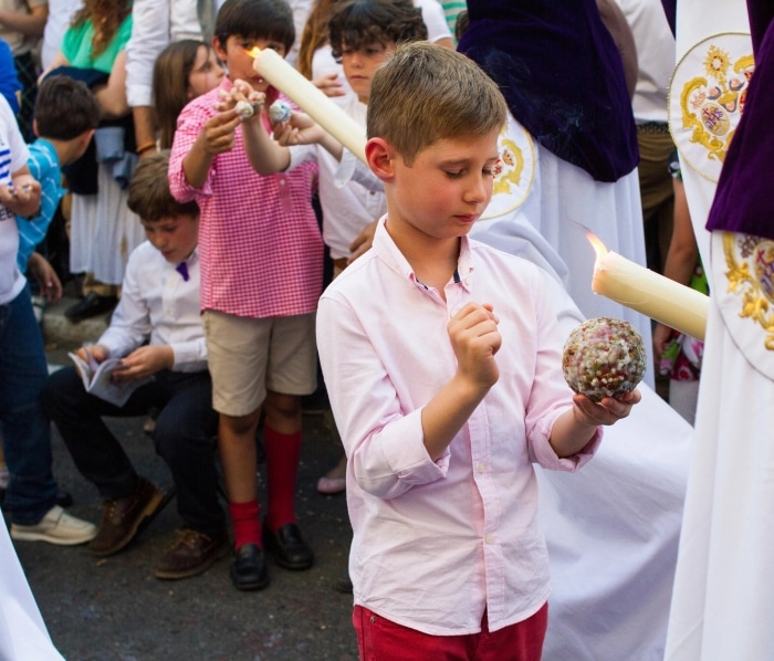
<svg viewBox="0 0 774 661"><path fill-rule="evenodd" d="M124 499L107 499L102 511L100 532L88 549L100 557L118 553L137 535L140 525L161 510L164 492L140 478L135 492Z"/></svg>

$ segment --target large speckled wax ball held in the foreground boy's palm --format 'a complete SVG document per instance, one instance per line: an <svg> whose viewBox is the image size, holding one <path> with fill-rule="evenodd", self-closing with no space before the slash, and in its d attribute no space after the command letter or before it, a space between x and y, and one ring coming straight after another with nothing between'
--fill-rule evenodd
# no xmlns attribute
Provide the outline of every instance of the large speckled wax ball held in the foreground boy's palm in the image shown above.
<svg viewBox="0 0 774 661"><path fill-rule="evenodd" d="M567 385L594 401L634 390L646 365L641 335L628 322L611 317L595 317L573 328L562 357Z"/></svg>

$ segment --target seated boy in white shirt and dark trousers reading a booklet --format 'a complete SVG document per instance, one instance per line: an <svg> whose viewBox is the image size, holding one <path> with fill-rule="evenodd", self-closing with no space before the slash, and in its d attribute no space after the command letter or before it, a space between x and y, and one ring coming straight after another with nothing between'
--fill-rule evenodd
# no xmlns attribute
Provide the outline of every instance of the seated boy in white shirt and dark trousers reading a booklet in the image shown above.
<svg viewBox="0 0 774 661"><path fill-rule="evenodd" d="M105 499L100 531L90 544L96 556L113 555L129 544L164 501L164 493L137 474L102 418L160 409L154 440L171 471L184 528L155 575L174 579L208 569L228 552L228 536L215 465L218 417L211 408L199 316L199 208L171 197L168 165L168 153L160 153L137 166L128 204L148 241L129 258L109 327L95 345L79 349L82 358L88 353L97 363L123 357L114 379L153 380L116 407L86 392L75 368L69 367L50 377L42 397L75 465Z"/></svg>

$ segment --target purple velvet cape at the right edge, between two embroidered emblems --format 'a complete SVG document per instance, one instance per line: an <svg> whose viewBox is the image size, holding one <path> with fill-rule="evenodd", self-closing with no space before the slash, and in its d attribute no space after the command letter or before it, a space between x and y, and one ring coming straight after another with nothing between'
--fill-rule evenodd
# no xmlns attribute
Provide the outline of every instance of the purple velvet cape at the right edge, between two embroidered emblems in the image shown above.
<svg viewBox="0 0 774 661"><path fill-rule="evenodd" d="M774 239L774 2L747 0L747 11L755 73L707 229Z"/></svg>

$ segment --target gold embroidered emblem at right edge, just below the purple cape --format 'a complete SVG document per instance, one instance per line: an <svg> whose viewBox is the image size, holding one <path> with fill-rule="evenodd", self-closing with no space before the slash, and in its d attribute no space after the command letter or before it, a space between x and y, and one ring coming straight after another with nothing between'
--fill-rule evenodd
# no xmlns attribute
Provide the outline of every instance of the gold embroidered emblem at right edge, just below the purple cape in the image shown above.
<svg viewBox="0 0 774 661"><path fill-rule="evenodd" d="M723 253L728 291L741 294L739 316L759 324L766 333L765 348L774 350L774 241L723 232Z"/></svg>

